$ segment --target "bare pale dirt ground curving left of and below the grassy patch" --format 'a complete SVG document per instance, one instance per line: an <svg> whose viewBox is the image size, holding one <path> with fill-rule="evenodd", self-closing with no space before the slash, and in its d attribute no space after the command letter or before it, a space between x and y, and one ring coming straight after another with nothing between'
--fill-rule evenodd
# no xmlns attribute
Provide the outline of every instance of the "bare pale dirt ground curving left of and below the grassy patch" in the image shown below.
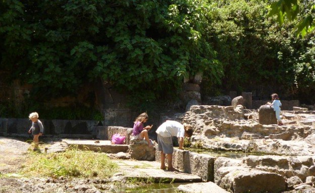
<svg viewBox="0 0 315 193"><path fill-rule="evenodd" d="M97 190L95 188L97 181L93 180L21 177L18 172L27 162L30 146L26 142L0 137L0 193L109 192Z"/></svg>

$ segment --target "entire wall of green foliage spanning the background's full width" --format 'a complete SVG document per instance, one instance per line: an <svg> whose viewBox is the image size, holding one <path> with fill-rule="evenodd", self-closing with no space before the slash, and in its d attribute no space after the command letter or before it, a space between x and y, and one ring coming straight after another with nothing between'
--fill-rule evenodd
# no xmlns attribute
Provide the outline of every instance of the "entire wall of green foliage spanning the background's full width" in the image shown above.
<svg viewBox="0 0 315 193"><path fill-rule="evenodd" d="M102 80L139 105L203 72L204 95L256 89L315 102L313 14L308 0L2 0L2 79L34 85L38 100Z"/></svg>

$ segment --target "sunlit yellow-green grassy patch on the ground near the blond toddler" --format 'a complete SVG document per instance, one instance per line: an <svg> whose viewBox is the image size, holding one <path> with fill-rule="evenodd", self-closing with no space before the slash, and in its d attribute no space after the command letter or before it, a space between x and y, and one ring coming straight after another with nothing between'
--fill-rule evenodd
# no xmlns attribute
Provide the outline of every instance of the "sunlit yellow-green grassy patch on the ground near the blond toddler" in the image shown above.
<svg viewBox="0 0 315 193"><path fill-rule="evenodd" d="M118 165L104 153L72 148L62 153L31 153L22 173L45 177L108 178L117 172Z"/></svg>

